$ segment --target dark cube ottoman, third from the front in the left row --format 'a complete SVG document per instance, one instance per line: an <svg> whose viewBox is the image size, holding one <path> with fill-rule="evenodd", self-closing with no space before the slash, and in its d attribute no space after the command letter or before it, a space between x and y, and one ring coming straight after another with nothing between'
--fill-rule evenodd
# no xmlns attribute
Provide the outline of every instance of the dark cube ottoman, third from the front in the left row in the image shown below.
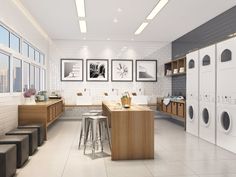
<svg viewBox="0 0 236 177"><path fill-rule="evenodd" d="M38 148L37 129L15 129L6 133L6 135L28 135L29 136L29 155L33 155Z"/></svg>

